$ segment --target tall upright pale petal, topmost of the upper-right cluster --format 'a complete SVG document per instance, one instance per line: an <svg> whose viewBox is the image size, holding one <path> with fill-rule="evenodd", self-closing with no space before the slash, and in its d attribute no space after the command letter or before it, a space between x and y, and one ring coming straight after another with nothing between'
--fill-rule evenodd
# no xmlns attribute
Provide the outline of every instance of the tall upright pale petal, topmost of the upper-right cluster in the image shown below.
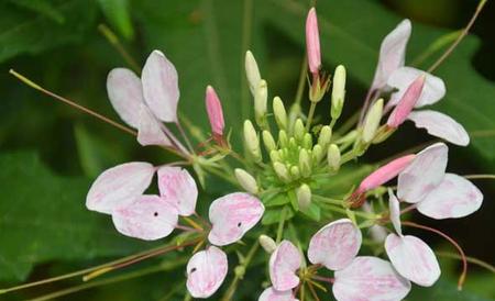
<svg viewBox="0 0 495 301"><path fill-rule="evenodd" d="M378 65L372 83L373 90L385 87L392 73L404 66L410 31L410 21L406 19L383 40L380 47Z"/></svg>

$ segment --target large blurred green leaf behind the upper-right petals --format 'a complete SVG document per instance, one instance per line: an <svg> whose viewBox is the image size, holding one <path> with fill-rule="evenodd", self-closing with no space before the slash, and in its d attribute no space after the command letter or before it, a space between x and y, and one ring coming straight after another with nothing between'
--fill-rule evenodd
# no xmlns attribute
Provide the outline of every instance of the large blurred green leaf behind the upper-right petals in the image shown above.
<svg viewBox="0 0 495 301"><path fill-rule="evenodd" d="M272 24L304 45L308 1L268 0L265 1L263 11L268 15L277 15L270 18ZM369 87L375 71L380 44L402 18L384 9L378 1L365 0L319 1L318 12L323 59L332 65L345 65L352 79ZM406 65L414 62L440 36L449 33L444 29L418 22L414 22L413 27ZM436 71L446 81L448 92L433 109L448 113L462 123L471 133L471 147L486 161L495 163L495 85L483 78L471 64L479 46L477 37L466 36ZM429 59L419 67L427 69L431 63ZM400 135L400 132L397 134Z"/></svg>

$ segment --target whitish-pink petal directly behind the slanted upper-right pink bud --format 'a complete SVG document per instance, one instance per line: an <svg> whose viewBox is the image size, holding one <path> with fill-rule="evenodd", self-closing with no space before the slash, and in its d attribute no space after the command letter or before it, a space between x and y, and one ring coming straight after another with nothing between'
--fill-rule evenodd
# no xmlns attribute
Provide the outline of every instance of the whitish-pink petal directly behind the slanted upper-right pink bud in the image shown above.
<svg viewBox="0 0 495 301"><path fill-rule="evenodd" d="M425 71L413 67L402 67L395 70L388 78L387 85L393 88L397 88L398 91L392 94L387 107L396 105L403 98L407 87L409 87L410 83L413 83L413 81L421 75L426 75L425 87L422 89L421 97L416 102L415 108L436 103L446 96L446 83L443 83L441 78L430 74L425 74Z"/></svg>

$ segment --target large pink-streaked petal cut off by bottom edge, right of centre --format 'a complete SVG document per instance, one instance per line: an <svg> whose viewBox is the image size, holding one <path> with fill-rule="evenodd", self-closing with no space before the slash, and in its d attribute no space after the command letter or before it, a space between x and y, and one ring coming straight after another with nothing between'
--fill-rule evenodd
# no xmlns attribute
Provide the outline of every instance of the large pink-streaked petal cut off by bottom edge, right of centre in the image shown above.
<svg viewBox="0 0 495 301"><path fill-rule="evenodd" d="M370 256L356 257L334 274L333 296L338 301L397 301L410 290L410 282L392 265Z"/></svg>

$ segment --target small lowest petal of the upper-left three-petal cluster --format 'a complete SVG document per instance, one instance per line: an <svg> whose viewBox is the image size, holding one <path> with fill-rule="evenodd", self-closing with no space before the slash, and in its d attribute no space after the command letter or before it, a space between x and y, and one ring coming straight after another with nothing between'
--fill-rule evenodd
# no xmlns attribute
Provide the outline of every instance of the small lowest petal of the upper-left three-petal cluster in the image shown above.
<svg viewBox="0 0 495 301"><path fill-rule="evenodd" d="M164 126L150 112L146 105L140 109L140 125L138 130L138 142L143 145L172 146L170 140L165 135L161 126Z"/></svg>

